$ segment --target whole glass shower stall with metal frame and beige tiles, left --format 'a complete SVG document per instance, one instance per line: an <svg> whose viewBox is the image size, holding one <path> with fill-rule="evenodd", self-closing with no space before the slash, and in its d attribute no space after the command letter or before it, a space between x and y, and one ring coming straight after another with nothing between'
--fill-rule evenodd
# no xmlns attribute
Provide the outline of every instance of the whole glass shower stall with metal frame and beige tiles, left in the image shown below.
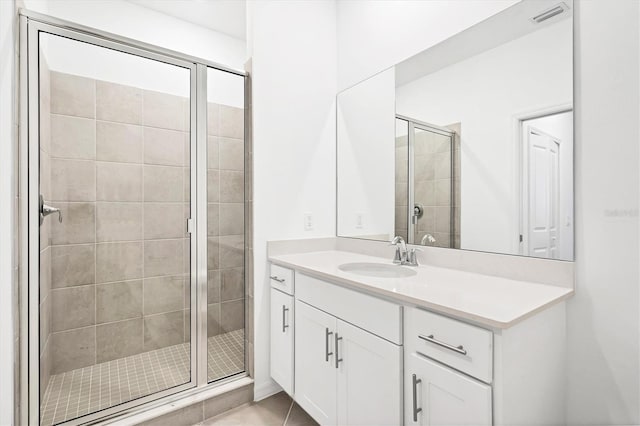
<svg viewBox="0 0 640 426"><path fill-rule="evenodd" d="M28 423L245 377L245 73L24 13L21 76Z"/></svg>

